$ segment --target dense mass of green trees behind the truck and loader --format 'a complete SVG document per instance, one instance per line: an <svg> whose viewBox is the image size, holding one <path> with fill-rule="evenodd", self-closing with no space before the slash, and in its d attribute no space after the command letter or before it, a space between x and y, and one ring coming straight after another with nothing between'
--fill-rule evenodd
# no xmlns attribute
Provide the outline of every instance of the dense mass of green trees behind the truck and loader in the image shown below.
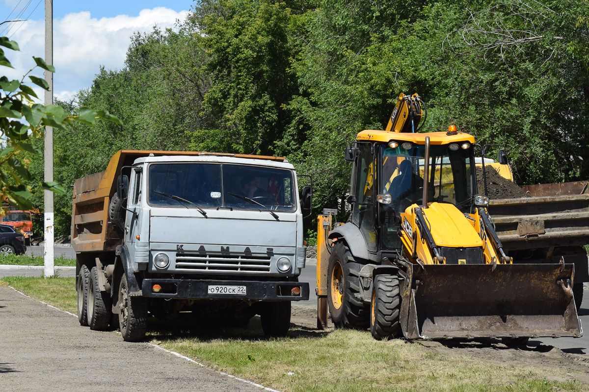
<svg viewBox="0 0 589 392"><path fill-rule="evenodd" d="M286 155L312 175L315 207L334 207L345 146L383 129L399 92L426 101L424 132L505 145L522 185L587 179L586 15L586 0L201 0L80 92L127 128L60 129L58 180L121 148Z"/></svg>

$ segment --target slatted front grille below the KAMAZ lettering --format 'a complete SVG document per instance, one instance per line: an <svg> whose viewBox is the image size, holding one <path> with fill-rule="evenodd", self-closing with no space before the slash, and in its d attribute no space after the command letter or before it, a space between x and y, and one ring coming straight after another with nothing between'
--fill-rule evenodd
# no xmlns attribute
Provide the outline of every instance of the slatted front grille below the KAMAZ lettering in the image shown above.
<svg viewBox="0 0 589 392"><path fill-rule="evenodd" d="M195 252L176 253L176 269L199 271L270 272L267 254Z"/></svg>

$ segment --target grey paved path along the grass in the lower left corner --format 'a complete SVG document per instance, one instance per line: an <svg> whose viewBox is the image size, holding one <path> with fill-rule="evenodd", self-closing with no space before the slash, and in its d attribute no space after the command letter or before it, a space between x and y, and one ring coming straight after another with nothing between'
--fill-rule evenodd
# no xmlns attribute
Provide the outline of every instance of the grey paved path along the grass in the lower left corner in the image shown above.
<svg viewBox="0 0 589 392"><path fill-rule="evenodd" d="M250 392L262 386L203 368L0 286L0 391ZM269 390L269 388L267 389Z"/></svg>

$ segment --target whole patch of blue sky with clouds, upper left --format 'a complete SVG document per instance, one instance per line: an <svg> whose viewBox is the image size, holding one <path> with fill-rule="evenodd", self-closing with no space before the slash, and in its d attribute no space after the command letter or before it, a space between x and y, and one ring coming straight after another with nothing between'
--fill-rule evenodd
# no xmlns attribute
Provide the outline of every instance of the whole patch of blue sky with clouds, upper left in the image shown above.
<svg viewBox="0 0 589 392"><path fill-rule="evenodd" d="M121 69L134 32L174 28L183 21L193 0L54 1L54 96L70 100L91 86L100 66ZM12 13L12 14L11 14ZM6 50L15 69L2 75L20 79L34 66L32 56L44 56L45 0L0 0L0 35L18 42L21 52ZM34 72L42 76L42 72ZM42 91L39 91L42 98Z"/></svg>

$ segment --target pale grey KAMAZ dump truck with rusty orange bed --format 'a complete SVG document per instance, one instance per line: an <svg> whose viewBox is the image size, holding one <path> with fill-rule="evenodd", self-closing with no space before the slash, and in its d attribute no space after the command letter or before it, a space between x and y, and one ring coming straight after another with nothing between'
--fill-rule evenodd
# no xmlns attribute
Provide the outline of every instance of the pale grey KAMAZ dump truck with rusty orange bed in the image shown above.
<svg viewBox="0 0 589 392"><path fill-rule="evenodd" d="M284 336L309 299L294 167L270 156L121 150L75 181L78 319L144 339L160 320L245 325Z"/></svg>

